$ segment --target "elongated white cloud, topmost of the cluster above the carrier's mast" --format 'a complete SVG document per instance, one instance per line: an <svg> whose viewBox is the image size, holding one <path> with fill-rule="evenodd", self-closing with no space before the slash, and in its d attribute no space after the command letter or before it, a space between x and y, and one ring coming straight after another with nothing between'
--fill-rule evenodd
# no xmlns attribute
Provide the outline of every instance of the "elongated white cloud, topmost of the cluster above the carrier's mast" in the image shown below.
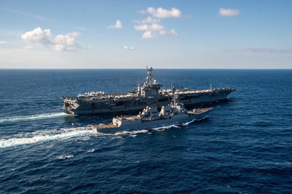
<svg viewBox="0 0 292 194"><path fill-rule="evenodd" d="M143 12L141 12L143 13ZM163 8L153 8L153 7L148 7L147 8L147 13L150 13L153 17L161 17L161 18L166 18L166 17L183 17L183 12L180 11L177 8L171 8L171 10L166 10Z"/></svg>

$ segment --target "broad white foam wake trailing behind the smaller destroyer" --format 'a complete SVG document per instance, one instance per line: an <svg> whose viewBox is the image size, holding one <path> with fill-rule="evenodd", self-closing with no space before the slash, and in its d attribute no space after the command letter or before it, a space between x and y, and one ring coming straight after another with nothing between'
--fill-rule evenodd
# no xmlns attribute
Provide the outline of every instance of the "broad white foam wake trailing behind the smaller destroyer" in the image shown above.
<svg viewBox="0 0 292 194"><path fill-rule="evenodd" d="M75 130L67 133L60 133L55 135L36 135L34 137L22 137L22 138L11 138L0 140L0 149L6 147L15 147L19 145L43 143L54 140L68 139L80 135L92 133L92 130Z"/></svg>

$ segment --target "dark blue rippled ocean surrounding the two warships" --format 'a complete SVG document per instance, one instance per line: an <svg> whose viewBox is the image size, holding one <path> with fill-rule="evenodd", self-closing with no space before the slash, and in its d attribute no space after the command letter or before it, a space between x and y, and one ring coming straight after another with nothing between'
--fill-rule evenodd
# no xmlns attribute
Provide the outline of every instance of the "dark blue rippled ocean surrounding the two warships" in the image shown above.
<svg viewBox="0 0 292 194"><path fill-rule="evenodd" d="M0 69L0 193L292 193L292 70L154 67L162 89L238 89L191 123L101 134L90 124L112 115L61 108L61 95L132 91L146 74Z"/></svg>

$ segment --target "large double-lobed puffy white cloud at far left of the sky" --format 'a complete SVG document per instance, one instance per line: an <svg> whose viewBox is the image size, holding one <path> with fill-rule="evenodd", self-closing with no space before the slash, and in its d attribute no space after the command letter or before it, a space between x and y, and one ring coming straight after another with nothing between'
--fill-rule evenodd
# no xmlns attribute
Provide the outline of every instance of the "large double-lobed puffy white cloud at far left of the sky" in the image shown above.
<svg viewBox="0 0 292 194"><path fill-rule="evenodd" d="M79 32L70 32L65 35L60 34L51 40L50 29L43 31L40 27L37 27L32 31L22 34L21 38L27 43L50 47L56 51L76 51L76 49L81 47L75 43L74 37L80 34Z"/></svg>

